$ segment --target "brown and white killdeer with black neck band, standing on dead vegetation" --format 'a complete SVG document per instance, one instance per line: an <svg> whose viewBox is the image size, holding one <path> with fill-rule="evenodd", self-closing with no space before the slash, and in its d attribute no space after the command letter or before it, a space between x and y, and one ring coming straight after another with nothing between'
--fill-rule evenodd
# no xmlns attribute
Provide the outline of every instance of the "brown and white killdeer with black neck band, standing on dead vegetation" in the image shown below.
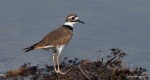
<svg viewBox="0 0 150 80"><path fill-rule="evenodd" d="M67 43L71 40L73 35L73 26L75 23L82 23L76 14L69 14L66 17L66 22L59 28L51 31L47 34L41 41L38 43L24 48L23 52L29 52L35 49L43 49L43 50L52 50L53 51L53 63L54 63L54 70L56 73L61 73L59 67L59 57L63 50L63 48L67 45ZM57 54L57 56L55 56ZM56 60L55 60L56 58ZM57 63L57 68L56 68Z"/></svg>

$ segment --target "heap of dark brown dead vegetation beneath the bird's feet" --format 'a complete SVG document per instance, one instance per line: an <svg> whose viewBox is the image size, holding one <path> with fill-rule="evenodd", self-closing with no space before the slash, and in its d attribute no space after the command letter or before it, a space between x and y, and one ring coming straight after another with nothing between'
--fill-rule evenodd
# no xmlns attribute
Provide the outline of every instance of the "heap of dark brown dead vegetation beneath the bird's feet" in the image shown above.
<svg viewBox="0 0 150 80"><path fill-rule="evenodd" d="M61 70L65 74L57 74L53 66L31 66L30 63L22 65L19 69L10 70L1 76L0 80L148 80L146 69L126 67L123 58L126 56L120 49L111 49L111 54L106 60L98 58L90 60L68 60L61 63Z"/></svg>

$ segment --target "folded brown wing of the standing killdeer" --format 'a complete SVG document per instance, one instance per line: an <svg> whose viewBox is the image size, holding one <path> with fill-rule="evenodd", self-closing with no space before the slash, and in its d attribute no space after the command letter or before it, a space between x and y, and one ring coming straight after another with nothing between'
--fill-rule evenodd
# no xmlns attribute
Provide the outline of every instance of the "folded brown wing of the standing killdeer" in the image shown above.
<svg viewBox="0 0 150 80"><path fill-rule="evenodd" d="M63 45L67 44L72 38L72 31L66 27L59 27L56 30L47 34L39 43L35 45L35 48L43 48L44 46Z"/></svg>

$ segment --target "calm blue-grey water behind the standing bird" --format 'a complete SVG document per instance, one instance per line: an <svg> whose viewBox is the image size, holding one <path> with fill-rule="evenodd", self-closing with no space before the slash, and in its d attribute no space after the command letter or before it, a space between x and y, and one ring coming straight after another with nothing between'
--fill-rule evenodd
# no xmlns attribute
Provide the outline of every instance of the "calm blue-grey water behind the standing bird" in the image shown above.
<svg viewBox="0 0 150 80"><path fill-rule="evenodd" d="M150 69L150 1L148 0L1 0L0 1L0 72L16 69L26 62L52 64L51 53L43 50L21 53L48 32L60 26L69 13L86 22L76 24L72 41L61 59L93 59L110 48L120 48L129 55L131 67Z"/></svg>

